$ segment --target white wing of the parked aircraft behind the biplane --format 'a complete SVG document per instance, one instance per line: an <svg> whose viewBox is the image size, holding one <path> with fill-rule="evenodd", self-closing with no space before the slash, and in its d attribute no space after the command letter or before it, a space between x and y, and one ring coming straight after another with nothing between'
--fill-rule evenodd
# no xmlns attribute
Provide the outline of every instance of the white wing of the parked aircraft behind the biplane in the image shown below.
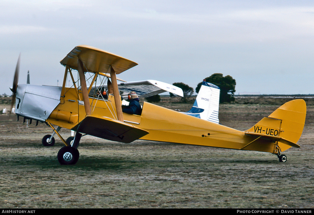
<svg viewBox="0 0 314 215"><path fill-rule="evenodd" d="M144 98L167 91L179 96L183 96L183 91L180 87L156 80L118 83L118 87L120 90L120 95L123 97L127 97L127 94L131 91L136 92L137 95Z"/></svg>

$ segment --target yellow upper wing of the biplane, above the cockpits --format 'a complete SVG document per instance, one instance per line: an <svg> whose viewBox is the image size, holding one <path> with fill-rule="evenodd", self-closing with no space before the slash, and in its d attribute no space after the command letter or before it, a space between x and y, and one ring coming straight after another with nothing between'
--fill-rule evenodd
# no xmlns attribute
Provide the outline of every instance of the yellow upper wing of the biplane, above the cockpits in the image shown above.
<svg viewBox="0 0 314 215"><path fill-rule="evenodd" d="M77 58L80 58L89 72L107 73L110 66L115 70L116 74L120 74L130 69L137 63L122 58L116 54L106 52L87 45L76 46L67 56L60 61L64 66L78 70Z"/></svg>

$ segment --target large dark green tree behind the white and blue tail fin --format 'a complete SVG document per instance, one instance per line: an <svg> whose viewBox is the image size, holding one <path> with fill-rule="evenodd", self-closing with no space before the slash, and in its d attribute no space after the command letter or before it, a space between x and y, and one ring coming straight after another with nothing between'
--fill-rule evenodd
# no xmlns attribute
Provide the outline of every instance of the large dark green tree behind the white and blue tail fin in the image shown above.
<svg viewBox="0 0 314 215"><path fill-rule="evenodd" d="M230 75L226 75L225 77L223 74L215 73L211 76L205 78L205 80L209 83L215 84L220 88L220 103L224 102L231 102L234 101L235 98L233 97L234 93L236 92L236 80L233 79ZM198 83L195 91L198 93L199 89L202 86L202 82Z"/></svg>

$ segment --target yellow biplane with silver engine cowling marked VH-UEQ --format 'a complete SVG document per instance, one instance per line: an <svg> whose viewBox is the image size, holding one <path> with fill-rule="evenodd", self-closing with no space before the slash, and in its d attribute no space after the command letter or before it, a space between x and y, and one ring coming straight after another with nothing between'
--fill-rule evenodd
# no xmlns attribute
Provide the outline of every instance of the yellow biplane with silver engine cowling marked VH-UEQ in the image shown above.
<svg viewBox="0 0 314 215"><path fill-rule="evenodd" d="M21 116L24 121L29 119L30 123L36 120L36 125L38 122L46 123L53 135L60 137L65 145L57 155L61 164L78 161L77 148L83 135L123 143L141 139L263 151L277 155L280 162L287 160L283 151L291 146L300 147L297 141L305 123L304 100L285 103L247 131L238 131L148 102L143 103L140 115L131 115L122 112L121 95L125 92L119 91L123 84L117 83L116 75L137 63L86 45L75 47L60 63L65 66L62 87L38 86L18 84L18 60L11 90L14 97L12 106L15 101L18 119ZM73 74L74 71L77 74ZM72 87L66 87L68 78L73 82ZM106 98L99 96L100 87L105 85ZM76 131L76 134L66 141L58 132L61 128ZM49 146L53 135L45 136L43 144Z"/></svg>

